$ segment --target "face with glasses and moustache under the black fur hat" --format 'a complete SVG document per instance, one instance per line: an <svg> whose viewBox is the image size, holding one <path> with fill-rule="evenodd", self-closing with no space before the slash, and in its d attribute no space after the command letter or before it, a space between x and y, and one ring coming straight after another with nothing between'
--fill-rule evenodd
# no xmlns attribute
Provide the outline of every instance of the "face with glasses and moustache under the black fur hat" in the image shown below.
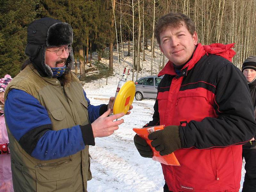
<svg viewBox="0 0 256 192"><path fill-rule="evenodd" d="M53 67L64 67L65 63L67 61L67 58L69 56L69 53L67 53L64 49L64 51L62 52L61 49L63 48L67 48L68 45L63 45L60 47L50 47L50 48L46 48L46 52L45 52L45 63L47 65L49 65L51 68ZM55 52L52 51L56 51L59 50L60 55L56 55ZM48 51L49 50L49 51Z"/></svg>

